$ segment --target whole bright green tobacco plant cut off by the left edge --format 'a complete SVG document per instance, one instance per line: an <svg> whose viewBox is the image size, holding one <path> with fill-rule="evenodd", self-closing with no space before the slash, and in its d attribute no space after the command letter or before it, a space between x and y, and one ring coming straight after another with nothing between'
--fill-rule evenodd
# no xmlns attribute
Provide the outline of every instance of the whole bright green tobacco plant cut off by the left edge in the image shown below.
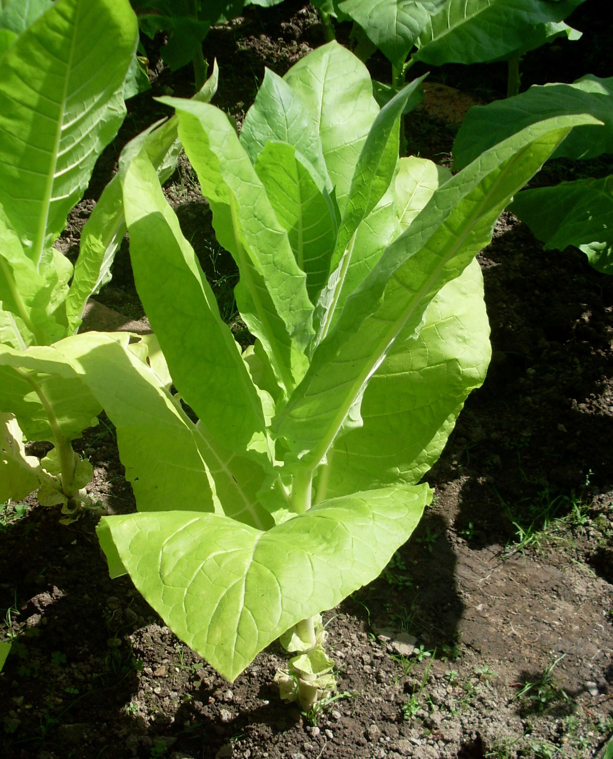
<svg viewBox="0 0 613 759"><path fill-rule="evenodd" d="M97 424L102 406L49 346L77 332L88 298L110 279L126 231L121 176L130 154L144 147L168 177L178 120L124 150L73 267L54 244L124 119L136 18L127 0L13 0L2 19L8 11L32 17L0 55L0 502L36 490L67 521L88 503L93 476L71 441ZM212 94L215 77L200 97ZM24 439L53 448L39 461Z"/></svg>

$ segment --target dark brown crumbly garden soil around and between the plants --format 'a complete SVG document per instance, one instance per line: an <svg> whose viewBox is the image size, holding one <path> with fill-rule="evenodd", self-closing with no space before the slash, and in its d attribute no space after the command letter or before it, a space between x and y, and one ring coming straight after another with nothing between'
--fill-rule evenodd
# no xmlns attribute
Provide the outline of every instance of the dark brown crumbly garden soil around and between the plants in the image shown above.
<svg viewBox="0 0 613 759"><path fill-rule="evenodd" d="M264 65L282 74L321 42L300 2L213 30L215 102L240 121ZM96 166L62 238L69 256L121 146L159 118L151 94L190 93L188 70L171 76L155 48L149 58L153 92L130 102ZM467 71L486 90L483 69ZM443 162L455 129L421 109L407 119L409 149ZM236 272L187 162L166 191L235 320ZM3 756L596 755L613 732L613 284L577 250L543 252L508 213L479 260L492 326L486 383L428 475L436 497L416 533L377 581L325 615L338 698L308 715L281 704L277 644L225 682L129 579L108 579L94 515L62 527L49 510L13 504L0 513L0 632L14 636L0 674ZM99 299L143 317L125 241ZM105 509L134 510L112 424L102 416L75 448L93 461L90 490Z"/></svg>

